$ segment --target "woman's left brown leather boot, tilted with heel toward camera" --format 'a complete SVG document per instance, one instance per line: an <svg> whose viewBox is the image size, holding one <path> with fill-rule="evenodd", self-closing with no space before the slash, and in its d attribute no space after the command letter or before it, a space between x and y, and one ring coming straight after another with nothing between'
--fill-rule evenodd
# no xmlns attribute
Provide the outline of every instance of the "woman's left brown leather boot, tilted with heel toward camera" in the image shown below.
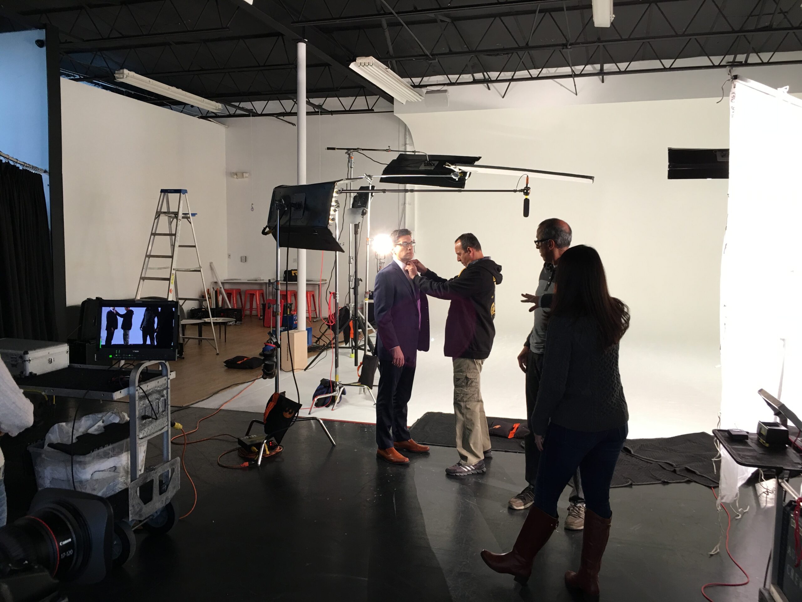
<svg viewBox="0 0 802 602"><path fill-rule="evenodd" d="M537 506L532 506L524 526L520 529L518 539L512 546L512 551L506 554L493 554L482 550L482 559L493 571L515 576L518 583L526 584L532 574L532 561L535 555L549 541L549 537L559 524L557 518L547 515Z"/></svg>

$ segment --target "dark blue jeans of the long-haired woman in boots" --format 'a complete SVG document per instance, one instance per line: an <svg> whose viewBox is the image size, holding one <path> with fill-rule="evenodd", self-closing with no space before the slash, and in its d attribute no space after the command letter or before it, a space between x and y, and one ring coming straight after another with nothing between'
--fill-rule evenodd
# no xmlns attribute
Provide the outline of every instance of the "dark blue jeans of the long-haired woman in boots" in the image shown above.
<svg viewBox="0 0 802 602"><path fill-rule="evenodd" d="M578 467L585 506L602 519L610 519L610 482L627 433L626 425L598 433L549 425L537 468L534 505L556 517L560 494Z"/></svg>

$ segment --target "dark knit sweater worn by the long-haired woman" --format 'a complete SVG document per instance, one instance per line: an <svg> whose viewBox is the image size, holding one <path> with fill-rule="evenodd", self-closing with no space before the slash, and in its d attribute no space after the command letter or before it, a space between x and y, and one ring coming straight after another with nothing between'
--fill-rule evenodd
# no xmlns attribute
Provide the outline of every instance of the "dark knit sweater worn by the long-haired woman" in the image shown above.
<svg viewBox="0 0 802 602"><path fill-rule="evenodd" d="M626 425L629 417L618 372L618 344L602 350L592 318L549 319L532 415L535 433L545 435L549 421L598 432Z"/></svg>

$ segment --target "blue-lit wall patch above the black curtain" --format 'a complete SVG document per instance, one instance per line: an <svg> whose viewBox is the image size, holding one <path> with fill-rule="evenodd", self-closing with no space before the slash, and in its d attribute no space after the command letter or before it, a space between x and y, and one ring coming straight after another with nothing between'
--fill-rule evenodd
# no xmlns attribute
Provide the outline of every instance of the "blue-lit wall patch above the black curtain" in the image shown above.
<svg viewBox="0 0 802 602"><path fill-rule="evenodd" d="M46 51L43 30L0 34L0 151L47 169ZM49 205L47 174L43 175Z"/></svg>

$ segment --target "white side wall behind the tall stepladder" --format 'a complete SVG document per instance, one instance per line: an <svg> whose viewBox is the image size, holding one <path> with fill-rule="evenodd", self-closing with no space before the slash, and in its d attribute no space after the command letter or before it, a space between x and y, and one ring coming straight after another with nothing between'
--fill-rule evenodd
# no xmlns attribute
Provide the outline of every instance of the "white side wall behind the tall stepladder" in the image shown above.
<svg viewBox="0 0 802 602"><path fill-rule="evenodd" d="M225 278L225 128L67 79L61 94L67 304L136 293L162 188L188 189L207 278L209 261ZM183 282L182 296L201 291Z"/></svg>

